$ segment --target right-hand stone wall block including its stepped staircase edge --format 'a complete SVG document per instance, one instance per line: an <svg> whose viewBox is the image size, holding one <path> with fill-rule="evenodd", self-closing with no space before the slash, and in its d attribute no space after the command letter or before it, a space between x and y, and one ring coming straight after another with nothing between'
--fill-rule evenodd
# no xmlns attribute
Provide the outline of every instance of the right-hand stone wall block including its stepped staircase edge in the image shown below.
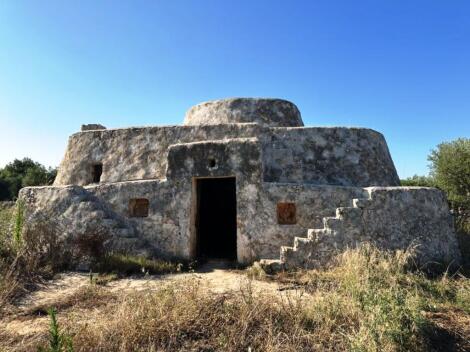
<svg viewBox="0 0 470 352"><path fill-rule="evenodd" d="M369 242L380 249L413 249L418 264L460 262L452 217L442 191L422 187L367 188L368 198L336 210L323 227L281 249L287 267L326 265L346 248Z"/></svg>

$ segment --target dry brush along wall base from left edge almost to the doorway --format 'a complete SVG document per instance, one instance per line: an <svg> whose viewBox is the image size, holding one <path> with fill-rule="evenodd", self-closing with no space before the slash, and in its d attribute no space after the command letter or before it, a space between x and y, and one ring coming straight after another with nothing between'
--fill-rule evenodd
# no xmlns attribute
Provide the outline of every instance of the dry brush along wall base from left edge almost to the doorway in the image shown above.
<svg viewBox="0 0 470 352"><path fill-rule="evenodd" d="M109 253L108 230L88 224L68 233L64 224L44 214L25 217L21 202L0 211L0 312L5 306L55 273L77 268L117 275L166 274L187 270L173 263Z"/></svg>

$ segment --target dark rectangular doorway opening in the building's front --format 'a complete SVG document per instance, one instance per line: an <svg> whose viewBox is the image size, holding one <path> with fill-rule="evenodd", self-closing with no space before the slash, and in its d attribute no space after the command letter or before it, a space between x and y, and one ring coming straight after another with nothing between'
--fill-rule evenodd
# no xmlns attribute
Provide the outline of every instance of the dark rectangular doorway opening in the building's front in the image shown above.
<svg viewBox="0 0 470 352"><path fill-rule="evenodd" d="M235 177L198 179L197 256L237 259L237 196Z"/></svg>

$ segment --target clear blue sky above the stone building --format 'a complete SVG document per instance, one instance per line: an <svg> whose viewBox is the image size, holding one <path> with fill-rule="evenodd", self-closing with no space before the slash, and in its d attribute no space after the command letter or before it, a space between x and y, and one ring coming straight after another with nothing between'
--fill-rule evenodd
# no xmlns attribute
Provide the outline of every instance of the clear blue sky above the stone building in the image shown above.
<svg viewBox="0 0 470 352"><path fill-rule="evenodd" d="M233 96L376 129L401 177L426 174L470 137L470 1L0 1L0 166L58 165L82 123L179 124Z"/></svg>

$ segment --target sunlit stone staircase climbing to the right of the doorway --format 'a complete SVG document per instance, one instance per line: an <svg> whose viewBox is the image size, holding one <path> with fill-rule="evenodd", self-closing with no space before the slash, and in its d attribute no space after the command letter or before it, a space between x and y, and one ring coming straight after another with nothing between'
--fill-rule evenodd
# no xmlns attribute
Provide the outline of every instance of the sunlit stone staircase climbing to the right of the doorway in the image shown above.
<svg viewBox="0 0 470 352"><path fill-rule="evenodd" d="M273 273L324 266L342 249L365 239L362 214L370 203L369 198L356 198L352 200L352 206L336 208L336 216L323 218L322 228L309 229L307 237L295 237L292 247L281 247L279 259L262 259L261 267Z"/></svg>

